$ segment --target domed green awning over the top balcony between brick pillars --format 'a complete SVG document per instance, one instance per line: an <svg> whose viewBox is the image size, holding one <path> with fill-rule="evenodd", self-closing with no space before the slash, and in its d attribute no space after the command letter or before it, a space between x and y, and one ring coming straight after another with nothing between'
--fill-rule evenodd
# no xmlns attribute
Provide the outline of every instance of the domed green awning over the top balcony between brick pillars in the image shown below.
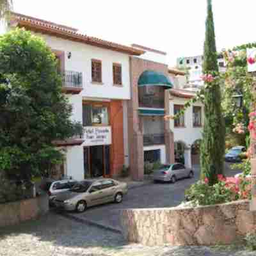
<svg viewBox="0 0 256 256"><path fill-rule="evenodd" d="M146 70L140 75L138 86L164 86L168 89L173 88L169 77L153 70Z"/></svg>

